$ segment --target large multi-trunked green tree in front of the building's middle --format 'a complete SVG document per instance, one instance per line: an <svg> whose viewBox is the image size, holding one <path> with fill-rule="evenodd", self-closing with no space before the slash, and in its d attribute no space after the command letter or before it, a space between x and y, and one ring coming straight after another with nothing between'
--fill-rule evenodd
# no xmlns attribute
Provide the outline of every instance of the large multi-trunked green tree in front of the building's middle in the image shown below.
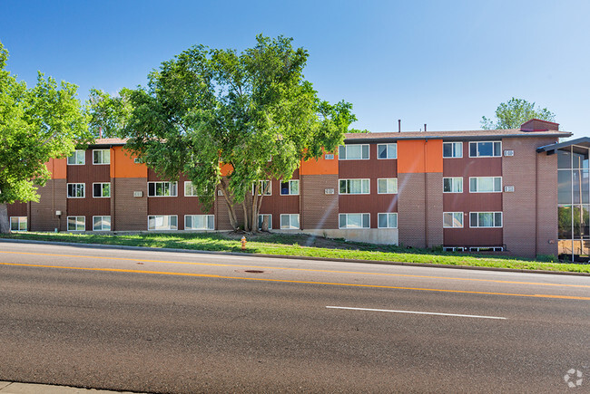
<svg viewBox="0 0 590 394"><path fill-rule="evenodd" d="M127 147L162 177L192 180L205 207L221 189L234 229L258 231L266 179L289 180L301 159L342 143L351 104L320 101L303 78L308 53L261 35L242 53L202 45L162 62L147 88L128 94ZM221 166L230 165L227 177Z"/></svg>

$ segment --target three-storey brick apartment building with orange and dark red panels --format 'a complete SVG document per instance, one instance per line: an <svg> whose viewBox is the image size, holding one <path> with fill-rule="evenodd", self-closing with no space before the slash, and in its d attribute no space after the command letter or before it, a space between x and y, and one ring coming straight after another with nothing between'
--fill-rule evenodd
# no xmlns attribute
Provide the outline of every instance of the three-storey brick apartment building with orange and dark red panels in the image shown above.
<svg viewBox="0 0 590 394"><path fill-rule="evenodd" d="M517 130L347 134L338 152L302 162L290 181L269 180L261 223L379 244L557 255L567 247L560 237L580 235L560 224L577 200L574 191L558 198L558 185L573 190L572 182L585 179L578 205L590 207L590 142L558 143L570 136L543 120ZM53 176L40 202L9 207L13 231L231 229L219 192L206 210L188 179L160 179L123 147L122 139L98 139L47 163ZM580 149L585 161L572 164ZM566 156L570 167L562 168Z"/></svg>

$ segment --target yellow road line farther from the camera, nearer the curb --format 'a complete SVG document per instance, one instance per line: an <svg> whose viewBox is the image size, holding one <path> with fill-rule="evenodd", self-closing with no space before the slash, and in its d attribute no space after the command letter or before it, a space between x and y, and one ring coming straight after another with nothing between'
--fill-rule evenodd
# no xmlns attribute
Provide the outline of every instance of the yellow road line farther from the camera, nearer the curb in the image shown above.
<svg viewBox="0 0 590 394"><path fill-rule="evenodd" d="M141 263L187 264L187 265L205 265L205 266L220 266L220 267L234 267L234 268L260 268L260 269L266 269L266 270L290 270L290 271L304 271L304 272L314 272L314 273L363 274L363 275L399 276L399 277L423 278L423 279L444 279L444 280L468 281L468 282L489 282L489 283L508 283L508 284L528 284L528 285L537 285L537 286L590 288L590 285L587 285L587 284L536 283L536 282L519 282L519 281L501 281L501 280L497 280L497 279L457 278L457 277L448 277L448 276L366 273L366 272L360 272L360 271L320 270L320 269L313 269L313 268L270 267L270 266L266 266L266 265L252 265L252 264L244 265L244 264L193 263L193 262L177 262L177 261L166 261L166 260L148 260L148 259L126 258L126 257L105 257L105 256L92 256L92 255L57 255L57 254L33 253L33 252L0 251L0 253L13 254L13 255L48 255L48 256L53 256L53 257L121 260L121 261L133 261L133 262L141 262Z"/></svg>

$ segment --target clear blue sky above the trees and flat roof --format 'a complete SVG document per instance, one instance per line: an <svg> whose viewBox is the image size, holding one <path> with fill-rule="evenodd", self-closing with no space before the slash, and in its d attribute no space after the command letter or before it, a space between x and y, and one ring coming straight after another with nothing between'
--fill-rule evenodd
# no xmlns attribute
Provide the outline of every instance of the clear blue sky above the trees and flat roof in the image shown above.
<svg viewBox="0 0 590 394"><path fill-rule="evenodd" d="M116 93L192 44L242 50L286 35L322 99L357 129L477 130L511 97L590 136L590 2L0 0L7 69Z"/></svg>

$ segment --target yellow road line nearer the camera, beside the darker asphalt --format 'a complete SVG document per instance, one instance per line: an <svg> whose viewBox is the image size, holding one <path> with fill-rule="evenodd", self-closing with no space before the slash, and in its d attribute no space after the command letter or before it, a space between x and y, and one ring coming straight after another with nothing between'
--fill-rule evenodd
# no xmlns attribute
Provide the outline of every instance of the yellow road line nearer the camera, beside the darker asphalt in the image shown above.
<svg viewBox="0 0 590 394"><path fill-rule="evenodd" d="M17 265L17 266L26 266L26 267L59 268L59 269L67 269L67 270L98 271L98 272L113 272L113 273L160 274L160 275L173 275L173 276L192 276L192 277L202 277L202 278L239 279L239 280L243 280L243 281L328 284L328 285L332 285L332 286L369 287L369 288L396 289L396 290L418 290L418 291L423 291L423 292L468 293L468 294L484 294L484 295L511 295L511 296L516 296L516 297L559 298L559 299L567 299L567 300L590 301L590 297L579 297L579 296L574 296L574 295L473 292L473 291L467 291L467 290L446 290L446 289L428 289L428 288L422 288L422 287L386 286L386 285L381 285L381 284L332 283L332 282L294 281L294 280L289 280L289 279L246 278L246 277L240 277L240 276L225 276L225 275L214 275L214 274L171 273L171 272L166 272L166 271L129 270L129 269L123 269L123 268L89 268L89 267L72 267L72 266L44 265L44 264L19 264L19 263L0 263L0 265Z"/></svg>

